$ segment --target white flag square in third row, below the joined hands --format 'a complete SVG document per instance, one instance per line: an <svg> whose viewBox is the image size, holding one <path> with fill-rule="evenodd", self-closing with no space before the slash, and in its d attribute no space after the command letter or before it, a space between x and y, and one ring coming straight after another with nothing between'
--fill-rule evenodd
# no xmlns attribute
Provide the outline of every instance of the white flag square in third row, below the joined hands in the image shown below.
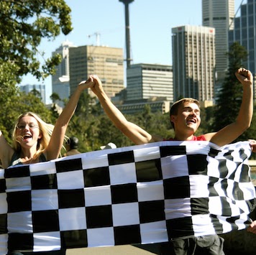
<svg viewBox="0 0 256 255"><path fill-rule="evenodd" d="M111 205L110 186L86 187L84 197L86 206Z"/></svg>

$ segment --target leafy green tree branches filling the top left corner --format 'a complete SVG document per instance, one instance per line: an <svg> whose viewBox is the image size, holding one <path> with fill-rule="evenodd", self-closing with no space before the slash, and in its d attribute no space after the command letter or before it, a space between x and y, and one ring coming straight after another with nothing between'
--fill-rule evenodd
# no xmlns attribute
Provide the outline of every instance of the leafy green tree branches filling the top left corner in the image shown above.
<svg viewBox="0 0 256 255"><path fill-rule="evenodd" d="M60 30L71 30L70 8L64 0L0 1L0 84L19 83L31 73L38 80L55 72L60 55L41 64L38 46L42 38L54 39ZM44 57L43 53L40 53ZM8 75L10 74L10 75Z"/></svg>

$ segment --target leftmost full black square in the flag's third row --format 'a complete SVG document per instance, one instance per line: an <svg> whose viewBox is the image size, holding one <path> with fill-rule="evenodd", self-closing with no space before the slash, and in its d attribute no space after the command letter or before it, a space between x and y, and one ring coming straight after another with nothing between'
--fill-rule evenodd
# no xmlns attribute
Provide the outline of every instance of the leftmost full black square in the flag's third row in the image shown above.
<svg viewBox="0 0 256 255"><path fill-rule="evenodd" d="M32 210L30 190L6 193L6 195L8 213Z"/></svg>

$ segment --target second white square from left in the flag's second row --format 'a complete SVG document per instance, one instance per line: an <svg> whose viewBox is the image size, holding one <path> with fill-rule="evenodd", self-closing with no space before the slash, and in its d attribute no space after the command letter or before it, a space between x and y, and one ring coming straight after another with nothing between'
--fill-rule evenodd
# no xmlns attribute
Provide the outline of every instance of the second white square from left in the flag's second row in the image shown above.
<svg viewBox="0 0 256 255"><path fill-rule="evenodd" d="M58 172L58 189L71 190L84 188L83 170Z"/></svg>

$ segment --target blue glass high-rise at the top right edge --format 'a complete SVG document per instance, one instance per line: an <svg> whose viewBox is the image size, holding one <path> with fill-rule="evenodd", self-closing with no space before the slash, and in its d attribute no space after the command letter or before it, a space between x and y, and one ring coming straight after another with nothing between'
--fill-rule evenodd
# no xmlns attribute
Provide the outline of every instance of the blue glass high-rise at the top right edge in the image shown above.
<svg viewBox="0 0 256 255"><path fill-rule="evenodd" d="M239 42L247 50L244 68L249 69L256 78L256 0L247 0L240 6L240 17L234 18L234 28L229 31L229 45ZM254 79L255 82L255 79ZM256 85L254 85L256 98Z"/></svg>

